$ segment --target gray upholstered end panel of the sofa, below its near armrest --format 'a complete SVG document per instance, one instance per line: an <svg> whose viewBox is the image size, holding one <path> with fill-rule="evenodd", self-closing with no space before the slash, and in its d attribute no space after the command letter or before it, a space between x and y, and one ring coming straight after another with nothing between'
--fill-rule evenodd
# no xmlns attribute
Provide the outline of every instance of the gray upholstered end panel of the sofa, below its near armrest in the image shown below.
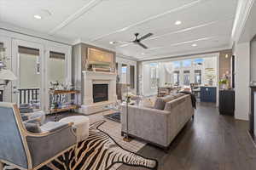
<svg viewBox="0 0 256 170"><path fill-rule="evenodd" d="M139 138L166 145L167 120L169 111L139 106L128 106L128 133ZM122 131L126 132L126 107L121 111Z"/></svg>

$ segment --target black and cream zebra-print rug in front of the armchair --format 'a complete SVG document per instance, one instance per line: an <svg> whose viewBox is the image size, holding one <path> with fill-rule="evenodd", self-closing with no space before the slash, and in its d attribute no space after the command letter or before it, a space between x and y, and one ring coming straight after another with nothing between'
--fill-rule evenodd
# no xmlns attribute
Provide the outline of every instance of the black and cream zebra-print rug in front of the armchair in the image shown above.
<svg viewBox="0 0 256 170"><path fill-rule="evenodd" d="M156 170L158 162L125 150L99 127L106 121L90 125L88 139L77 144L75 149L67 151L39 170L110 170L114 164L132 167L145 167ZM5 166L5 170L15 170Z"/></svg>

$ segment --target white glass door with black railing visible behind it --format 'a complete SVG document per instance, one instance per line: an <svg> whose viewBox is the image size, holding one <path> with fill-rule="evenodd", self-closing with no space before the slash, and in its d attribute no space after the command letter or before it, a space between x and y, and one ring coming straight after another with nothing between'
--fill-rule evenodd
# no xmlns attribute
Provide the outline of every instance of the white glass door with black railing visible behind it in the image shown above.
<svg viewBox="0 0 256 170"><path fill-rule="evenodd" d="M44 45L13 39L12 68L17 77L12 83L12 102L45 110Z"/></svg>

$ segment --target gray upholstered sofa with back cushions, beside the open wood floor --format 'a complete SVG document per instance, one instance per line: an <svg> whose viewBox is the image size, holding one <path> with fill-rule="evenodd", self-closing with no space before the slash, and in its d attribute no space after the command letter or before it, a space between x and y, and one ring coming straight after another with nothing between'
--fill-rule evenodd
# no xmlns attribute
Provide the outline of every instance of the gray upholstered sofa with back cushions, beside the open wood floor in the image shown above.
<svg viewBox="0 0 256 170"><path fill-rule="evenodd" d="M122 134L126 133L126 111L122 105ZM166 149L194 114L189 94L158 98L154 107L129 105L128 134Z"/></svg>

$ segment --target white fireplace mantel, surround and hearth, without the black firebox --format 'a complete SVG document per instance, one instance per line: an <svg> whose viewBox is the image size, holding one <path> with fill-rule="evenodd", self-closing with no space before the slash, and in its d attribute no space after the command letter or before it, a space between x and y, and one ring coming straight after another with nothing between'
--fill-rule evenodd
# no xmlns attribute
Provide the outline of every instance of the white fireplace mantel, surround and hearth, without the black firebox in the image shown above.
<svg viewBox="0 0 256 170"><path fill-rule="evenodd" d="M104 106L115 103L116 95L116 77L113 72L100 71L82 71L83 74L83 105L79 112L90 115L99 111L103 111ZM93 102L93 84L108 84L108 101Z"/></svg>

